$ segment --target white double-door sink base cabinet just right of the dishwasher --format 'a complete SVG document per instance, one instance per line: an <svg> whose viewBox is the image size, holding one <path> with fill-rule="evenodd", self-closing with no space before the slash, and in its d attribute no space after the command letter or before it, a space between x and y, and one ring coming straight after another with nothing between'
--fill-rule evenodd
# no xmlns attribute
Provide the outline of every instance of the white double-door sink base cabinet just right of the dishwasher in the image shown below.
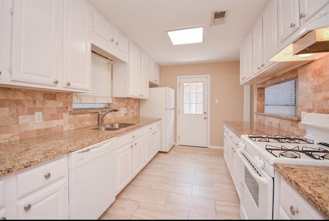
<svg viewBox="0 0 329 221"><path fill-rule="evenodd" d="M144 166L144 127L117 137L117 191L120 191Z"/></svg>

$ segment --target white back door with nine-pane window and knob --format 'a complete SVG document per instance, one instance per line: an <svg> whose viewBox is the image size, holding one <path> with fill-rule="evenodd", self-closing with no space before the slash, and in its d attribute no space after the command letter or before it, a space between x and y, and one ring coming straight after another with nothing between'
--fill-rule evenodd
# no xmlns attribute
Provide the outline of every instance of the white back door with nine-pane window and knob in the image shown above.
<svg viewBox="0 0 329 221"><path fill-rule="evenodd" d="M207 147L208 77L179 79L178 144Z"/></svg>

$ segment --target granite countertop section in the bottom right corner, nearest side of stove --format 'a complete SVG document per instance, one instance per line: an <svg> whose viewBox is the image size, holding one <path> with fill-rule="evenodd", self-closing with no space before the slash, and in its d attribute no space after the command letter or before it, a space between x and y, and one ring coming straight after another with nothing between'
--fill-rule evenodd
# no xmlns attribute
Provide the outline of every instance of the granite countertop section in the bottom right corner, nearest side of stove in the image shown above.
<svg viewBox="0 0 329 221"><path fill-rule="evenodd" d="M329 167L275 163L274 169L329 219Z"/></svg>

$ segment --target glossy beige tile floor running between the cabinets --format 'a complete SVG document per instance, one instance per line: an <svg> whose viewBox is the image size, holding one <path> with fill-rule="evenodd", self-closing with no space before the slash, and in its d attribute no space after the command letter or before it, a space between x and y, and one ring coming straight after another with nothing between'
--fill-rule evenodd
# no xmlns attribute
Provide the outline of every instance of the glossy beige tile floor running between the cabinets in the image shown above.
<svg viewBox="0 0 329 221"><path fill-rule="evenodd" d="M99 219L240 219L223 150L159 152Z"/></svg>

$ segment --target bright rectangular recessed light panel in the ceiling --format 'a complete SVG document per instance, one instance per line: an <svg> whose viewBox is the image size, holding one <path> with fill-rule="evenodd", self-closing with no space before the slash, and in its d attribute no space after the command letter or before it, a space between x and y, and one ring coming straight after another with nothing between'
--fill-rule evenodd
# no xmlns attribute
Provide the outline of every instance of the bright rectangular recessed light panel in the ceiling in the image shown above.
<svg viewBox="0 0 329 221"><path fill-rule="evenodd" d="M204 27L183 28L166 32L173 45L204 42Z"/></svg>

